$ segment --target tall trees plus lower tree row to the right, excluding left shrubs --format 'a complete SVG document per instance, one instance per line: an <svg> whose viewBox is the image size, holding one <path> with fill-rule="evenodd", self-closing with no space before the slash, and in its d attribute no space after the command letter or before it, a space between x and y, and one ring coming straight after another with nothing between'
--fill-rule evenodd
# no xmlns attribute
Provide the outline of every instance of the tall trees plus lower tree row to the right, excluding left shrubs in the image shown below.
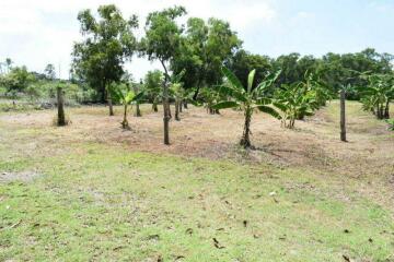
<svg viewBox="0 0 394 262"><path fill-rule="evenodd" d="M363 72L392 73L393 56L372 48L356 53L328 52L321 58L296 52L278 58L251 53L243 49L242 40L225 21L190 17L178 24L178 17L186 14L182 7L150 13L141 39L134 34L139 27L136 15L125 20L115 5L100 7L97 12L99 17L90 10L78 16L85 39L74 46L72 75L94 87L101 102L107 100L107 86L125 80L123 66L134 56L159 61L165 82L185 70L183 86L196 90L195 99L201 88L222 83L222 66L232 70L243 84L253 69L256 82L281 70L274 88L301 82L305 73L313 73L334 93L343 85L366 86ZM360 95L352 93L348 98L359 99Z"/></svg>

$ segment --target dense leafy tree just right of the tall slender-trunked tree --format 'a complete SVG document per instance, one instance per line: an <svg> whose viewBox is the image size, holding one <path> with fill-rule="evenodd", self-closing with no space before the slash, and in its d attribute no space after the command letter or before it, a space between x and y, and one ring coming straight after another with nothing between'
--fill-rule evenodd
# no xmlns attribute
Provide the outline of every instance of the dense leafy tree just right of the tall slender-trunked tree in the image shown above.
<svg viewBox="0 0 394 262"><path fill-rule="evenodd" d="M201 87L221 83L221 67L242 45L229 23L218 19L209 19L206 23L197 17L187 21L181 43L181 51L172 60L171 68L175 74L186 70L182 82L185 88L197 87L195 99Z"/></svg>

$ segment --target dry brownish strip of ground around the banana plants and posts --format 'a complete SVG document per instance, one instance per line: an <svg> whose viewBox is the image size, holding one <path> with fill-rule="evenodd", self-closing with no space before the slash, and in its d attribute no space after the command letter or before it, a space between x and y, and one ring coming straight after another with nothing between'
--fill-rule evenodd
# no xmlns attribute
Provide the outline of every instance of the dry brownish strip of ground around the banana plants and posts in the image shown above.
<svg viewBox="0 0 394 262"><path fill-rule="evenodd" d="M339 141L338 104L333 102L305 121L298 121L294 130L280 127L280 122L265 114L255 114L252 122L252 143L256 150L237 146L243 128L240 111L223 110L208 115L204 108L182 112L182 121L171 122L170 146L162 143L162 112L142 107L140 118L129 116L130 131L120 129L121 109L108 117L105 107L81 107L69 110L72 123L65 128L51 126L51 110L0 116L18 132L28 128L31 147L54 154L61 146L80 142L126 144L130 151L197 156L210 159L232 159L247 163L269 163L281 167L313 168L333 176L366 179L368 183L382 182L394 200L394 133L384 122L361 111L358 103L348 103L348 143ZM393 114L394 115L394 114ZM37 135L38 134L38 135ZM15 145L18 146L18 145ZM34 153L34 152L32 152ZM376 179L379 178L379 179ZM379 192L376 192L379 194ZM382 195L381 198L386 198Z"/></svg>

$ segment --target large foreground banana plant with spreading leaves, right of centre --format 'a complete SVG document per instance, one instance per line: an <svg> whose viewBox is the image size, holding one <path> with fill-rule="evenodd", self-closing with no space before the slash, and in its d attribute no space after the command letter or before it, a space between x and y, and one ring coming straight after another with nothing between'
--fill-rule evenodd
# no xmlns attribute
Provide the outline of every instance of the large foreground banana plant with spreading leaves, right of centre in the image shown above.
<svg viewBox="0 0 394 262"><path fill-rule="evenodd" d="M263 112L280 119L280 115L270 106L271 99L264 96L265 91L269 88L278 79L280 71L267 75L266 79L254 86L256 70L252 70L247 78L247 86L243 86L241 81L227 68L222 68L222 73L227 79L227 84L218 86L218 93L230 98L212 106L213 109L241 108L245 116L244 130L240 144L248 148L251 143L251 121L253 112L258 109Z"/></svg>

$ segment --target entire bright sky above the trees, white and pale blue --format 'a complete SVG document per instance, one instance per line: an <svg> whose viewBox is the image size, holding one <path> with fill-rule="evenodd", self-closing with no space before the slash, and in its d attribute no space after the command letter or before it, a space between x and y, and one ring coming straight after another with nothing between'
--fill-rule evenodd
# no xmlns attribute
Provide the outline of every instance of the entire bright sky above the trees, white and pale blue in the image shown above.
<svg viewBox="0 0 394 262"><path fill-rule="evenodd" d="M394 53L394 0L0 0L0 61L36 72L53 63L67 79L73 43L82 39L79 11L107 3L125 17L137 14L141 27L149 12L184 5L187 16L230 22L244 49L270 57L367 47ZM136 80L153 69L160 66L139 58L127 64Z"/></svg>

